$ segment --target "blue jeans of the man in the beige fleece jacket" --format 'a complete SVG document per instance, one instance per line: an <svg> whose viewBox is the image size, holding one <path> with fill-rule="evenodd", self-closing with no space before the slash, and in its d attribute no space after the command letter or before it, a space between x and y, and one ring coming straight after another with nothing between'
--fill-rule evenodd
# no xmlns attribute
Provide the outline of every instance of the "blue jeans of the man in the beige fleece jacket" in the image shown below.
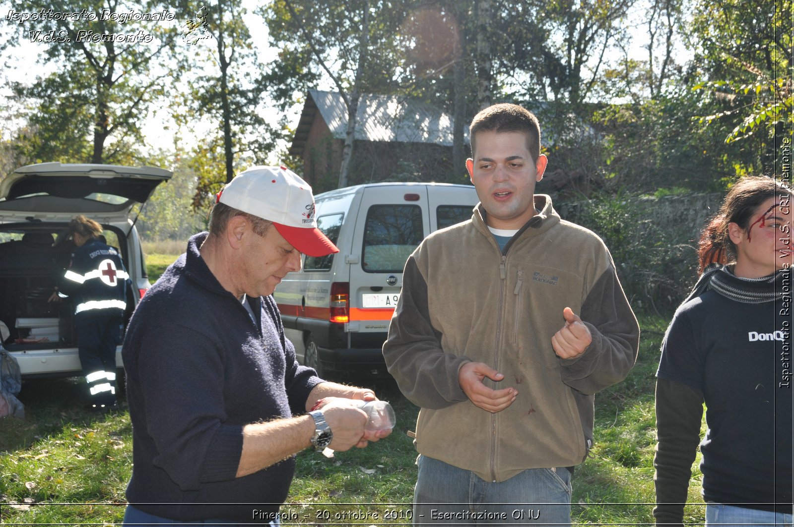
<svg viewBox="0 0 794 527"><path fill-rule="evenodd" d="M426 456L417 460L414 525L571 525L571 472L532 468L499 483Z"/></svg>

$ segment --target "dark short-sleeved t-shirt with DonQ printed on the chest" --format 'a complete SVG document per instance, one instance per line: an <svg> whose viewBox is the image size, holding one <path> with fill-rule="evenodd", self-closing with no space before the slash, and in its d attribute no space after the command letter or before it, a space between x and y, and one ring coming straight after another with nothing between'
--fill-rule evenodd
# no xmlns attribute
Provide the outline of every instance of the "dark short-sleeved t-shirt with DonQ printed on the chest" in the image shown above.
<svg viewBox="0 0 794 527"><path fill-rule="evenodd" d="M703 498L775 510L792 502L792 314L788 299L736 302L714 290L680 306L657 376L703 393ZM777 510L781 510L780 507Z"/></svg>

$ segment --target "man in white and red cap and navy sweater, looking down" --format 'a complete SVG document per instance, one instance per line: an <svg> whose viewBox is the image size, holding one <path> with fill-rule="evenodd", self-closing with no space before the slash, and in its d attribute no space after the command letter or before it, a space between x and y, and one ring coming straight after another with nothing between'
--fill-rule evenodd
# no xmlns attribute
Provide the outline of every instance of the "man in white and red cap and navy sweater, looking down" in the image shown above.
<svg viewBox="0 0 794 527"><path fill-rule="evenodd" d="M311 187L285 167L253 167L218 193L209 231L191 237L129 324L125 525L278 525L296 452L387 435L365 432L353 401L372 390L297 363L271 296L301 253L338 252L317 229Z"/></svg>

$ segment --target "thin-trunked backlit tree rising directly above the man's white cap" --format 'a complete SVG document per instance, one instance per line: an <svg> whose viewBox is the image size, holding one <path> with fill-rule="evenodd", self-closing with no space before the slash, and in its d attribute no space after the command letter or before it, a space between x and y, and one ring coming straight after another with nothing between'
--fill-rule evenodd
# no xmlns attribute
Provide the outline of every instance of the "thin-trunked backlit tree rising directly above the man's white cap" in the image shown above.
<svg viewBox="0 0 794 527"><path fill-rule="evenodd" d="M235 173L250 165L265 164L285 137L286 118L269 122L264 117L264 67L255 40L245 24L247 10L239 0L198 2L209 38L195 40L195 62L187 75L189 88L175 101L177 121L191 129L198 122L215 123L210 133L197 137L188 167L195 175L192 207L206 210L214 194Z"/></svg>

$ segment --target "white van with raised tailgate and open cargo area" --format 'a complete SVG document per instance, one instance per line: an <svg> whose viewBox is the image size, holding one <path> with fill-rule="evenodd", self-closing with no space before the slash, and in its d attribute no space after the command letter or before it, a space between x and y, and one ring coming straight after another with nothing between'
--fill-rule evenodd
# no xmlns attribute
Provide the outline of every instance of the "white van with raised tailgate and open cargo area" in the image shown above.
<svg viewBox="0 0 794 527"><path fill-rule="evenodd" d="M172 172L156 167L37 163L0 182L0 344L24 379L81 375L70 302L48 302L75 245L72 217L102 225L130 278L125 325L149 287L141 240L129 217ZM116 365L121 367L121 346Z"/></svg>

